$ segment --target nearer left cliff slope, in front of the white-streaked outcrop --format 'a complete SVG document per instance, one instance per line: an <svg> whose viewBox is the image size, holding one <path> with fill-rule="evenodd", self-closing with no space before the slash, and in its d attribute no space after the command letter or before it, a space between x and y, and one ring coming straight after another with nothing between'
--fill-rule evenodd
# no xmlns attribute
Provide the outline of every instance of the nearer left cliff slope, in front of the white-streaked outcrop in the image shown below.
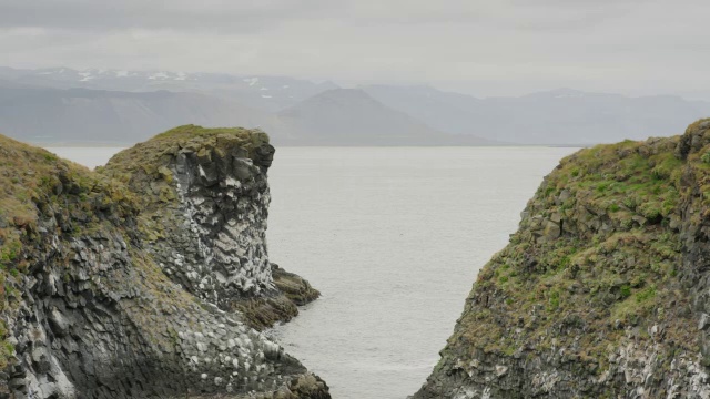
<svg viewBox="0 0 710 399"><path fill-rule="evenodd" d="M229 289L195 288L190 278L183 289L169 279L159 263L170 249L145 241L163 234L150 231L154 214L145 206L153 195L171 204L171 194L132 192L106 175L0 136L0 397L329 398L323 381L241 313L202 295ZM184 225L191 234L200 228ZM172 244L191 253L179 245L194 242ZM247 249L247 260L257 265L247 280L272 289L262 254Z"/></svg>

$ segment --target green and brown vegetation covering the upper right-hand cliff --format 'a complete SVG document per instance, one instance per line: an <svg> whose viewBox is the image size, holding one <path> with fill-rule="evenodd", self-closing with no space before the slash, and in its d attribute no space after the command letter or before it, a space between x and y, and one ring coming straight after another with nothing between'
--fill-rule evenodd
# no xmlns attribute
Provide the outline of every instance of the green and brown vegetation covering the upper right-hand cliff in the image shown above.
<svg viewBox="0 0 710 399"><path fill-rule="evenodd" d="M510 354L524 342L549 348L554 337L560 346L578 342L574 356L596 368L623 326L641 326L645 336L666 324L678 346L697 350L671 228L680 221L682 167L693 165L673 155L677 143L627 141L564 158L528 204L510 245L480 272L476 301L466 309L475 317L462 321L473 325L463 326L462 336L473 347ZM484 295L505 299L481 308Z"/></svg>

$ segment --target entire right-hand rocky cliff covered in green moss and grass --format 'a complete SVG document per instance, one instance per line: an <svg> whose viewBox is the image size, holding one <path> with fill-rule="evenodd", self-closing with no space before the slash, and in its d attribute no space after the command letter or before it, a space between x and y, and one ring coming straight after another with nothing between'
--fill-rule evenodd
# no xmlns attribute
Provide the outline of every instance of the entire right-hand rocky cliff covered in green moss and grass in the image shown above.
<svg viewBox="0 0 710 399"><path fill-rule="evenodd" d="M414 398L710 397L710 120L562 160Z"/></svg>

